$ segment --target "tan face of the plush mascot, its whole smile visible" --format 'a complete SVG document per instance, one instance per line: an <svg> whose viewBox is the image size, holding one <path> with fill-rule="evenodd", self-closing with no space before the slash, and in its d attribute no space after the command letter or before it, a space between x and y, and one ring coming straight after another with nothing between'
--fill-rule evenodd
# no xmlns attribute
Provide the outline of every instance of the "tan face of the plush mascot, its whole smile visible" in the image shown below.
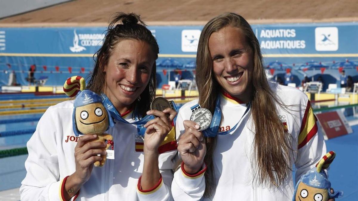
<svg viewBox="0 0 358 201"><path fill-rule="evenodd" d="M102 103L76 108L76 126L83 134L102 134L108 128L108 114Z"/></svg>

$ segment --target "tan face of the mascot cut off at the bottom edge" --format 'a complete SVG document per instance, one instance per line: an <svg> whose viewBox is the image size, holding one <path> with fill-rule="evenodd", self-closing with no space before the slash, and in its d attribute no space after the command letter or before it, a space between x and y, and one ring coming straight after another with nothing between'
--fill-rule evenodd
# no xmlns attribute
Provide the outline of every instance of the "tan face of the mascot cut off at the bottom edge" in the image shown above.
<svg viewBox="0 0 358 201"><path fill-rule="evenodd" d="M300 182L297 188L295 201L327 201L327 189L314 188Z"/></svg>

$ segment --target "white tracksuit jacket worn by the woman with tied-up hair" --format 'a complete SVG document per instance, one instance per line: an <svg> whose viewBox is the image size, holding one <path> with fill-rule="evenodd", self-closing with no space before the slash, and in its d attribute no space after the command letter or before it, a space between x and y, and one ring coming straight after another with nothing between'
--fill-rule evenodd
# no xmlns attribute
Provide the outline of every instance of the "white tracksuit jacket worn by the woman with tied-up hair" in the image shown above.
<svg viewBox="0 0 358 201"><path fill-rule="evenodd" d="M41 117L27 143L27 173L20 187L22 201L62 201L63 179L76 170L74 147L78 138L72 130L72 112L73 100L69 100L49 107ZM131 122L131 117L132 112L124 119ZM107 159L103 167L94 167L91 177L72 200L171 200L175 129L159 148L163 180L142 192L137 189L137 183L143 170L143 140L137 135L136 126L115 121L115 126L106 133L113 136L115 159Z"/></svg>

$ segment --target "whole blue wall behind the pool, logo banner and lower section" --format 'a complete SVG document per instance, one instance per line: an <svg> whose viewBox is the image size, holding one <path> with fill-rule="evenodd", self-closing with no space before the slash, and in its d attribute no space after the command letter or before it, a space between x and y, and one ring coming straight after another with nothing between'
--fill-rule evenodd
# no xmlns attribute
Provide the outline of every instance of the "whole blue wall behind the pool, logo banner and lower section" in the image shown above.
<svg viewBox="0 0 358 201"><path fill-rule="evenodd" d="M185 64L195 61L202 28L149 26L160 47L157 64L171 58L183 65L180 67L183 78L192 78L194 69ZM261 24L252 25L252 29L266 65L278 61L295 69L316 61L328 67L323 73L319 69L292 70L297 85L304 75L314 79L321 75L326 85L338 83L338 70L329 67L345 60L358 62L357 22ZM88 76L93 69L93 54L102 43L105 30L104 27L0 28L0 85L8 83L10 72L15 72L19 84L28 85L26 78L33 64L37 67L35 78L48 77L46 85L62 85L72 75ZM158 87L168 83L168 71L175 68L178 67L157 68ZM167 72L163 72L164 69ZM358 67L345 69L345 72L358 81ZM283 78L284 73L285 70L275 70L274 76ZM171 80L173 74L170 74Z"/></svg>

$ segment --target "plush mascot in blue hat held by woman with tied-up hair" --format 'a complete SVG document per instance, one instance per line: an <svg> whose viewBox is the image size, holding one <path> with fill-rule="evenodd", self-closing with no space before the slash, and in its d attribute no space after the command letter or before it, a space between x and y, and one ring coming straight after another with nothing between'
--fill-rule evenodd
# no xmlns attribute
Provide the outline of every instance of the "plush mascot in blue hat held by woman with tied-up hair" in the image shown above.
<svg viewBox="0 0 358 201"><path fill-rule="evenodd" d="M79 134L96 134L97 138L88 142L106 142L108 149L112 145L113 138L110 134L104 133L109 126L113 127L113 120L109 111L103 106L100 95L86 90L84 78L73 76L68 78L63 85L63 90L69 97L76 99L73 102L73 131L76 136ZM105 150L104 149L104 150ZM96 161L95 166L102 167L106 162L106 155L101 155L102 160Z"/></svg>

